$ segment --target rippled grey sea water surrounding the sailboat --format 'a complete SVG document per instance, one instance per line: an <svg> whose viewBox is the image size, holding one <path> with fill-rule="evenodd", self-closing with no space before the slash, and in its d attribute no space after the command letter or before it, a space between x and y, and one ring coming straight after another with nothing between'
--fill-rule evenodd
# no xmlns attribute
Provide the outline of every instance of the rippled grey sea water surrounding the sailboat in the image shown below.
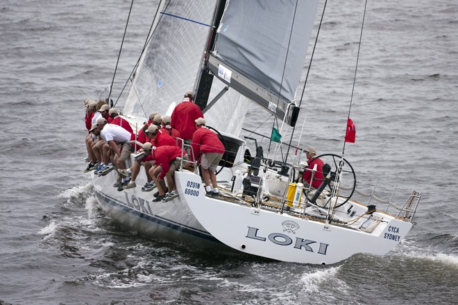
<svg viewBox="0 0 458 305"><path fill-rule="evenodd" d="M294 139L340 154L364 2L329 2ZM134 3L116 93L157 5ZM112 80L129 7L0 3L0 304L458 303L456 1L368 1L345 155L369 181L422 198L392 252L329 266L215 255L103 215L83 173L83 101ZM268 133L259 113L245 127Z"/></svg>

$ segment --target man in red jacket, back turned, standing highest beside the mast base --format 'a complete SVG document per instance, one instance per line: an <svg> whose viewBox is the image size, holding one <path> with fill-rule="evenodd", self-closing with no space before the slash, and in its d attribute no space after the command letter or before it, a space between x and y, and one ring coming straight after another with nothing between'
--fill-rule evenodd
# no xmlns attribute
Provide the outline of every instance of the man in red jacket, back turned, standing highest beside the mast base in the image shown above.
<svg viewBox="0 0 458 305"><path fill-rule="evenodd" d="M190 141L192 134L196 131L194 121L203 118L201 108L192 102L193 98L193 92L187 91L183 101L176 105L171 114L171 127L178 130L185 141Z"/></svg>

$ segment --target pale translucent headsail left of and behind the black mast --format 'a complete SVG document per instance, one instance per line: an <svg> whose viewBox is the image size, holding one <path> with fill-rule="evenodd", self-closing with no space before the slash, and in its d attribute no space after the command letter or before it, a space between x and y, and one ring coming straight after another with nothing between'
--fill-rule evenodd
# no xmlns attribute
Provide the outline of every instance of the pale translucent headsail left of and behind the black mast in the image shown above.
<svg viewBox="0 0 458 305"><path fill-rule="evenodd" d="M160 17L135 71L124 114L144 119L153 111L166 114L171 105L180 103L188 89L194 88L217 2L161 1ZM214 82L210 96L215 96L223 85L219 80ZM214 110L205 114L207 124L238 135L247 103L237 92L228 92Z"/></svg>

